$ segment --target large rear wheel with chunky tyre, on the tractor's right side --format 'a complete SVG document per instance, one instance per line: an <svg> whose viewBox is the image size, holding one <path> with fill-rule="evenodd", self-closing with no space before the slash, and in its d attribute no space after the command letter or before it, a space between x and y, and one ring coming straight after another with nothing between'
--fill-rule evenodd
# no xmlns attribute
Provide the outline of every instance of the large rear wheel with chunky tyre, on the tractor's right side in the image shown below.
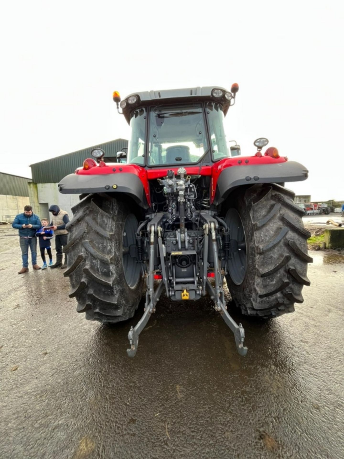
<svg viewBox="0 0 344 459"><path fill-rule="evenodd" d="M309 231L294 193L275 185L257 184L239 190L224 213L232 240L227 286L242 313L277 317L302 303L307 278Z"/></svg>

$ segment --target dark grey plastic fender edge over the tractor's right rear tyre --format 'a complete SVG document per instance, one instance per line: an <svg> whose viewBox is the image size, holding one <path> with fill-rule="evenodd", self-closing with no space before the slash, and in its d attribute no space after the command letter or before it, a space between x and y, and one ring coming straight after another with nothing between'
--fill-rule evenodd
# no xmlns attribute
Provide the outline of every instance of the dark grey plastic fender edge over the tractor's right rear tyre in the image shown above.
<svg viewBox="0 0 344 459"><path fill-rule="evenodd" d="M308 177L308 170L296 161L276 164L243 164L222 170L216 183L213 204L221 204L238 186L255 183L298 182Z"/></svg>

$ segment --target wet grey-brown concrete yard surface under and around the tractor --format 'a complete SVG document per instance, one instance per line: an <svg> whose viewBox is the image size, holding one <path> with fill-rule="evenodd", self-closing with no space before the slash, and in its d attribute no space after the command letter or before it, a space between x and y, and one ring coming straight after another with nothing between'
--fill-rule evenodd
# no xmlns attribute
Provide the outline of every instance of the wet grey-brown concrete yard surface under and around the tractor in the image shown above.
<svg viewBox="0 0 344 459"><path fill-rule="evenodd" d="M60 269L17 275L0 233L0 458L343 458L344 256L311 252L296 312L241 318L161 301L128 330L84 320ZM11 243L8 241L11 240ZM7 244L7 245L6 245Z"/></svg>

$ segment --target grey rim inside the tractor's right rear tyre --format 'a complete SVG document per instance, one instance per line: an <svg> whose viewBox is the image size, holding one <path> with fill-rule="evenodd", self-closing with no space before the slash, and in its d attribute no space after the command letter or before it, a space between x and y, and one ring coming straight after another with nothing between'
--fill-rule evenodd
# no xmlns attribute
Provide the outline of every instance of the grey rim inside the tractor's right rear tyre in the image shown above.
<svg viewBox="0 0 344 459"><path fill-rule="evenodd" d="M227 264L228 272L234 284L240 285L244 281L247 267L244 225L238 211L234 208L228 210L225 220L229 228L232 249Z"/></svg>

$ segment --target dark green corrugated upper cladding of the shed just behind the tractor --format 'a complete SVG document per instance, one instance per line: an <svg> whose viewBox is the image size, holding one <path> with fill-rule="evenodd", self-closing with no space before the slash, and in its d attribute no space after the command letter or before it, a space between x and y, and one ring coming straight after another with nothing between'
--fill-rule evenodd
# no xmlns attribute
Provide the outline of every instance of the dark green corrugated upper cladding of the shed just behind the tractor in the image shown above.
<svg viewBox="0 0 344 459"><path fill-rule="evenodd" d="M34 183L58 183L68 174L73 174L76 168L83 165L86 158L91 157L91 150L101 148L105 157L116 157L117 151L128 146L128 140L116 139L103 144L89 146L83 150L73 151L67 155L58 156L46 161L31 164L32 180Z"/></svg>

